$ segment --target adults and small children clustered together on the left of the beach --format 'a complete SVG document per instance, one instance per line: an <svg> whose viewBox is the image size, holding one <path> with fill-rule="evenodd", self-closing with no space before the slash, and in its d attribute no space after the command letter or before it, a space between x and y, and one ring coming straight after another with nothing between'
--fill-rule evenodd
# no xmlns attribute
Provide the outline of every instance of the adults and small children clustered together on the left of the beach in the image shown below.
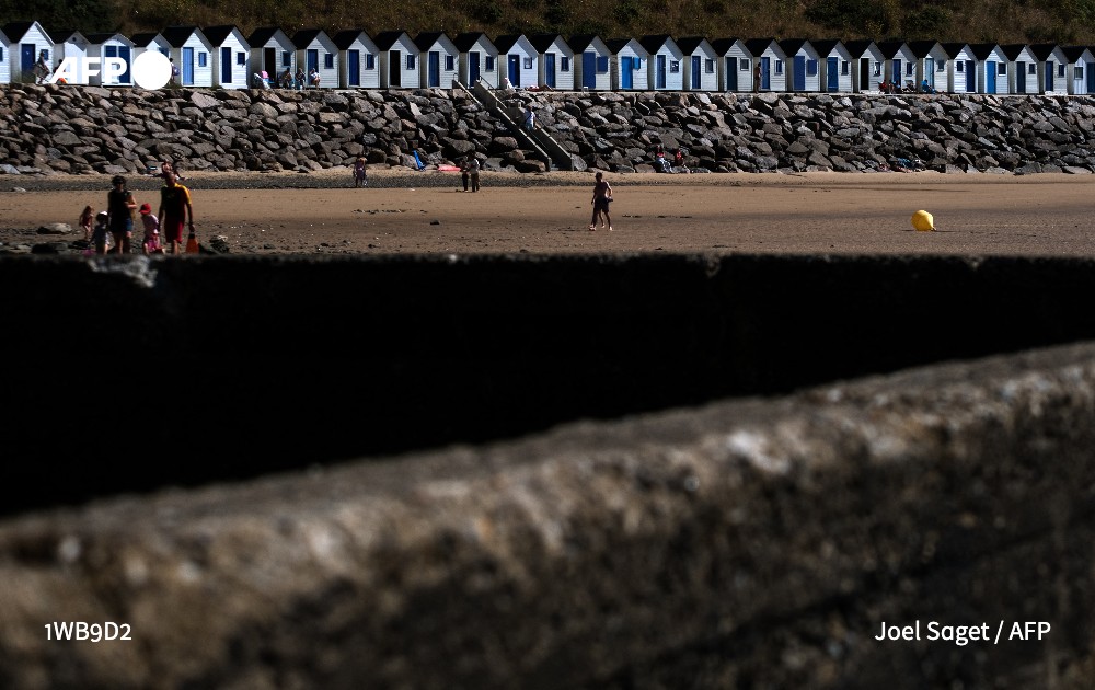
<svg viewBox="0 0 1095 690"><path fill-rule="evenodd" d="M111 180L112 189L106 195L106 210L96 214L94 207L84 207L78 222L83 230L84 241L93 248L95 254L132 253L134 228L138 217L145 231L141 253L183 253L184 227L189 228L191 242L187 244L193 242L196 248L189 189L178 184L180 176L169 161L160 166L155 175L163 177L160 207L155 215L152 214L151 204L145 203L138 208L137 199L122 175L115 175ZM186 251L194 249L187 246Z"/></svg>

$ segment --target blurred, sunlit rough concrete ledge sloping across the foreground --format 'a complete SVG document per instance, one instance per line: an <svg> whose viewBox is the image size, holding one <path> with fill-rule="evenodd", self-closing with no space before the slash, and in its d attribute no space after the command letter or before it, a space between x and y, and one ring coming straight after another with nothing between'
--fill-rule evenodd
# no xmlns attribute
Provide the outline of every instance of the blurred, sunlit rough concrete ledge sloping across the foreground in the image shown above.
<svg viewBox="0 0 1095 690"><path fill-rule="evenodd" d="M1093 528L1087 343L10 518L0 686L1085 688Z"/></svg>

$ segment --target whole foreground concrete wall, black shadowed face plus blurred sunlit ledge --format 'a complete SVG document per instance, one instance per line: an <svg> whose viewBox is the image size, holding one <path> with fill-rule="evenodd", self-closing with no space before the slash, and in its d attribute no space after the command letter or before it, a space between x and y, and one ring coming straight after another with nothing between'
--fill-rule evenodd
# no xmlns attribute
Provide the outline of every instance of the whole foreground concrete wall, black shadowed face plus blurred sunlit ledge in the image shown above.
<svg viewBox="0 0 1095 690"><path fill-rule="evenodd" d="M0 257L0 686L1087 687L1093 268Z"/></svg>

